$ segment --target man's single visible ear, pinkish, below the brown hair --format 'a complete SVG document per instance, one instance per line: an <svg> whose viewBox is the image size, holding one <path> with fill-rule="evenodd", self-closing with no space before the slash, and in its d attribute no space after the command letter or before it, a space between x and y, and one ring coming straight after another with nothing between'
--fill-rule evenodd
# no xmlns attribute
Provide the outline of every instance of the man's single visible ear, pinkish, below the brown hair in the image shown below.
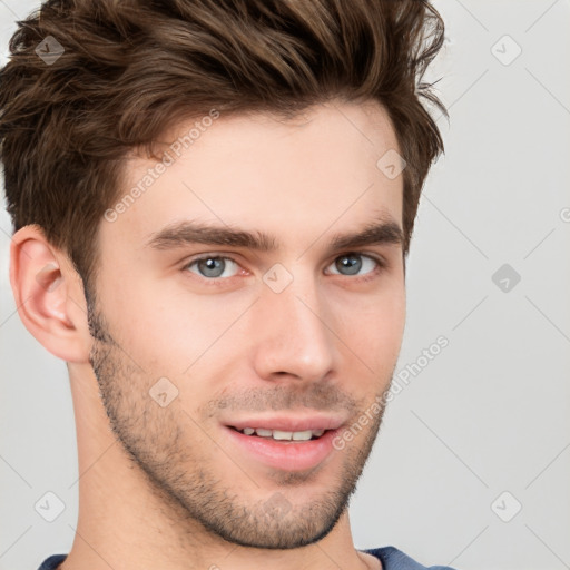
<svg viewBox="0 0 570 570"><path fill-rule="evenodd" d="M13 235L10 283L18 314L36 340L66 362L88 363L91 337L82 281L39 226Z"/></svg>

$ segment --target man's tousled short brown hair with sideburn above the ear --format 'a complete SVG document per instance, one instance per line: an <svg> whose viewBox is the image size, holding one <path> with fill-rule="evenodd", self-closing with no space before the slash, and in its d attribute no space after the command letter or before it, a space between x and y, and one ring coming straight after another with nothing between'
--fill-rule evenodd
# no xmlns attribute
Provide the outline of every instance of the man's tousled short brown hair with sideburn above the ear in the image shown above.
<svg viewBox="0 0 570 570"><path fill-rule="evenodd" d="M0 160L14 230L39 225L89 284L95 237L121 165L181 118L373 99L394 126L404 255L422 186L443 151L420 97L443 43L428 0L49 0L18 22L0 71ZM47 37L65 52L36 49ZM56 45L57 46L57 45Z"/></svg>

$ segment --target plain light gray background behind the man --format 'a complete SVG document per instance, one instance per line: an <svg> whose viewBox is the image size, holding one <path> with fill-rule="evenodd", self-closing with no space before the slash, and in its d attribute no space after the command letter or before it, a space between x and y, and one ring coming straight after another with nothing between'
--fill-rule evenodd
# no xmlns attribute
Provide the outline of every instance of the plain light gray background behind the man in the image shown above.
<svg viewBox="0 0 570 570"><path fill-rule="evenodd" d="M352 502L355 543L464 570L570 568L570 0L434 3L448 40L429 78L443 76L451 120L397 372L421 370ZM4 50L36 6L0 0ZM10 234L1 212L0 570L30 570L70 549L79 473L65 364L16 314ZM449 346L421 365L440 335ZM51 523L35 511L47 491L66 505Z"/></svg>

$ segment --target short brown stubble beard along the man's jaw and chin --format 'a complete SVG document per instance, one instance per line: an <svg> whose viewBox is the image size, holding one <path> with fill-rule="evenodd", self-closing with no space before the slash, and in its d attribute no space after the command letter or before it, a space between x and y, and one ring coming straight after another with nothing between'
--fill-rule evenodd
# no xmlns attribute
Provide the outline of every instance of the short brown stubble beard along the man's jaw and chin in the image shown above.
<svg viewBox="0 0 570 570"><path fill-rule="evenodd" d="M342 470L330 490L317 497L312 493L309 502L292 505L286 499L287 490L302 487L312 474L276 472L273 479L279 491L250 500L239 494L245 485L234 489L224 481L224 469L218 468L219 474L215 473L204 449L193 449L187 431L197 432L195 420L184 410L175 411L175 406L160 407L149 396L156 379L149 379L121 351L92 303L88 303L88 321L94 337L90 363L110 428L180 532L195 538L198 523L210 537L243 547L295 549L314 543L333 530L347 509L370 456L384 405L367 432L358 434L361 444L342 451ZM385 402L382 396L386 392L387 389L376 402ZM235 470L234 463L228 465ZM184 521L187 524L180 524Z"/></svg>

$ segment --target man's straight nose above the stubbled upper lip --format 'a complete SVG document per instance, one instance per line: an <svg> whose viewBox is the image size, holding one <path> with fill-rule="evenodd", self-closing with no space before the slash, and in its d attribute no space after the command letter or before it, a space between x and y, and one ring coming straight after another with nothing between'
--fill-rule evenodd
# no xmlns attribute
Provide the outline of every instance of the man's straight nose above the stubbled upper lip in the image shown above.
<svg viewBox="0 0 570 570"><path fill-rule="evenodd" d="M259 377L316 382L334 370L336 336L314 278L295 278L281 293L264 286L255 311L250 334Z"/></svg>

